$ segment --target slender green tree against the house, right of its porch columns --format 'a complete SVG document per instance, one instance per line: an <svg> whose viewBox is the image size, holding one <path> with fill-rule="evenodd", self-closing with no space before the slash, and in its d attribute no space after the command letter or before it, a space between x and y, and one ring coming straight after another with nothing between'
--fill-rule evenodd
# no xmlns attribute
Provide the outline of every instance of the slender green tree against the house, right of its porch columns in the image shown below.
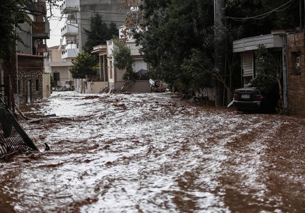
<svg viewBox="0 0 305 213"><path fill-rule="evenodd" d="M131 51L125 43L121 42L118 38L114 38L114 50L113 55L115 59L115 66L119 69L126 70L123 75L125 81L136 81L138 79L138 73L133 72L132 64L134 59L131 56Z"/></svg>

